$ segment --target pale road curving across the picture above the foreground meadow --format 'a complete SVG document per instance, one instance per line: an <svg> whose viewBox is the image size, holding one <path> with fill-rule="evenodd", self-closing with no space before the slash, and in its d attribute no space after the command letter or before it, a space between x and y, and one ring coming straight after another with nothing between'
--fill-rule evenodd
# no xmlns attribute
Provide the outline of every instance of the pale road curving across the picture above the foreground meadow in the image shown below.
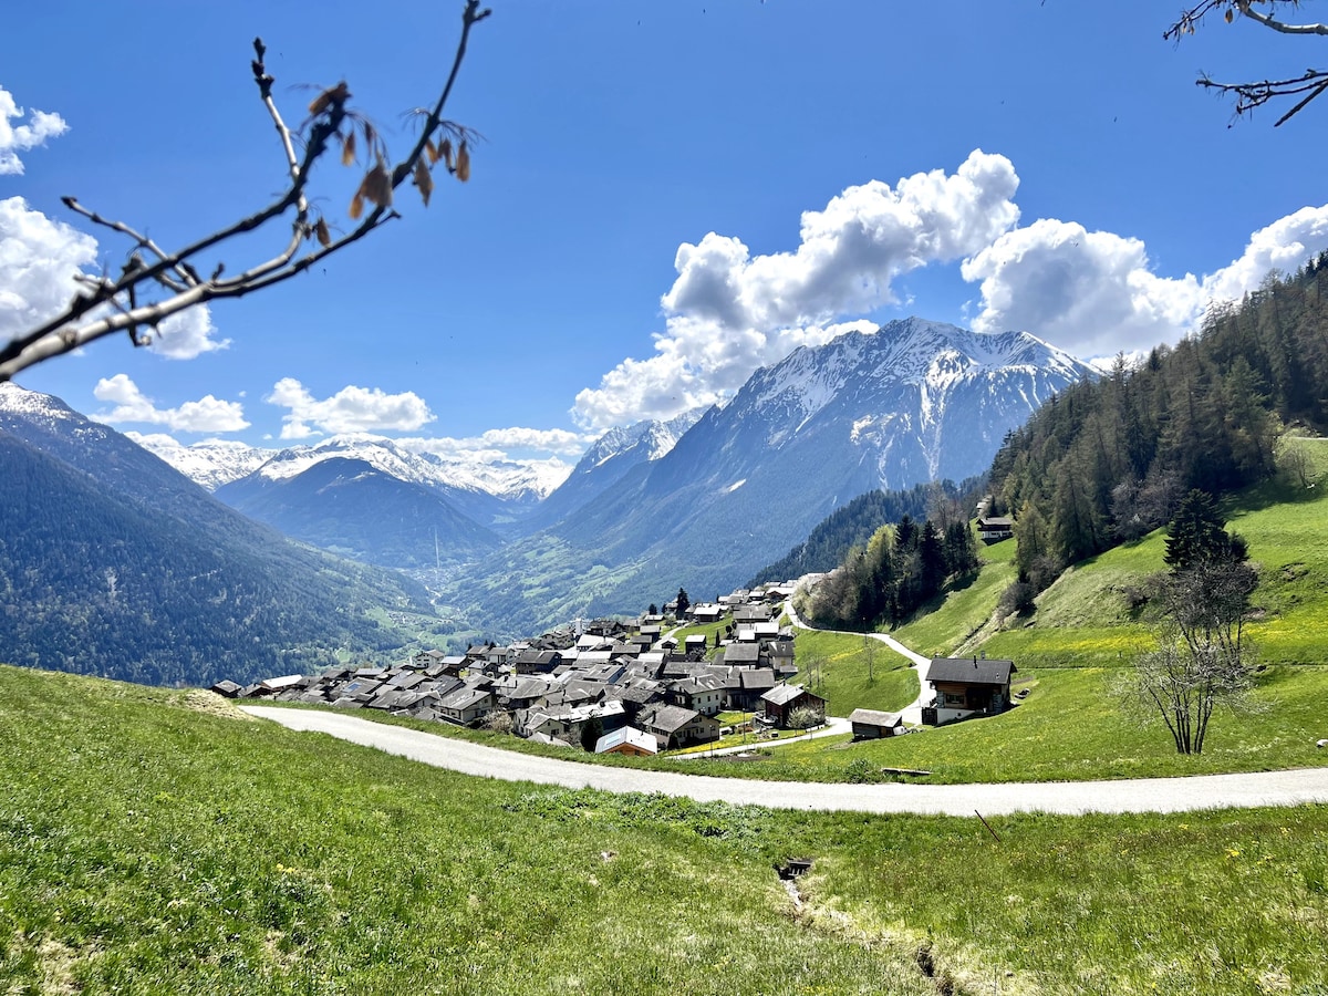
<svg viewBox="0 0 1328 996"><path fill-rule="evenodd" d="M242 705L244 712L295 730L328 733L462 774L571 789L659 791L697 802L733 802L772 809L855 813L923 813L968 817L1007 813L1185 813L1230 806L1295 806L1328 802L1328 768L1194 778L1109 782L1008 782L1004 785L825 785L710 778L671 772L559 761L551 757L449 740L388 726L340 712Z"/></svg>

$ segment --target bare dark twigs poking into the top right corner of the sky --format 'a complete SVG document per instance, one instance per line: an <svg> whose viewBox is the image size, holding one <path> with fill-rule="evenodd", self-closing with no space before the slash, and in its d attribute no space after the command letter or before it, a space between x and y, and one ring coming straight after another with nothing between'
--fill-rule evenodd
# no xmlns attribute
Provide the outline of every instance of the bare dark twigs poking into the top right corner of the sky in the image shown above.
<svg viewBox="0 0 1328 996"><path fill-rule="evenodd" d="M1305 0L1308 5L1309 0ZM1167 28L1162 37L1179 41L1187 35L1194 35L1195 29L1210 16L1220 15L1227 24L1236 20L1250 20L1270 31L1293 36L1328 36L1328 24L1313 21L1287 20L1280 16L1282 11L1299 11L1300 0L1203 0L1185 9L1181 16ZM1295 100L1296 102L1287 110L1274 127L1288 121L1295 114L1304 110L1309 101L1315 100L1324 90L1328 90L1328 69L1307 69L1296 76L1283 78L1248 80L1244 82L1218 82L1207 74L1197 80L1199 86L1215 90L1222 94L1231 94L1236 98L1236 116L1248 114L1255 108L1282 100Z"/></svg>

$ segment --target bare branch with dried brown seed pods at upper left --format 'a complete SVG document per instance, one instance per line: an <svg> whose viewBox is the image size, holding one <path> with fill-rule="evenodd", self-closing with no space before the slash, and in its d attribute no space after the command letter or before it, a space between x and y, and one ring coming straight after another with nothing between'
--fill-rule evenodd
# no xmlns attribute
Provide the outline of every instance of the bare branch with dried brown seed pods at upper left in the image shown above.
<svg viewBox="0 0 1328 996"><path fill-rule="evenodd" d="M186 308L222 297L243 297L290 280L400 218L393 195L402 183L414 185L428 207L440 162L448 174L469 179L475 133L444 118L442 113L465 60L470 31L489 15L479 0L466 0L452 69L433 105L413 112L418 134L409 153L396 163L388 158L382 135L351 106L351 90L344 80L319 92L301 125L288 126L272 100L275 80L264 64L267 49L262 39L255 39L250 65L259 98L276 127L288 174L284 190L254 214L170 251L124 222L104 218L76 198L64 198L70 211L124 235L133 246L118 274L78 274L74 279L81 287L58 315L0 347L0 381L118 332L126 333L134 345L146 345L165 319ZM327 216L311 207L308 193L313 167L329 151L339 151L343 165L359 163L365 170L347 211L355 224L337 235ZM239 270L219 258L242 236L272 226L284 235L271 258Z"/></svg>

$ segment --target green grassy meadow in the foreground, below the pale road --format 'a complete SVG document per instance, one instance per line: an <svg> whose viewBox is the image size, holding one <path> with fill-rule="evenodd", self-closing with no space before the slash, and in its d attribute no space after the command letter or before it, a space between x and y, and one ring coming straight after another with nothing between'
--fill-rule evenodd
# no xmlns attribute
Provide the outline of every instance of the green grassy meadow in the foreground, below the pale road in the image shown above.
<svg viewBox="0 0 1328 996"><path fill-rule="evenodd" d="M12 668L0 789L5 992L1328 985L1323 806L1008 817L997 843L976 818L471 780L205 693ZM801 907L773 870L793 855L815 859Z"/></svg>

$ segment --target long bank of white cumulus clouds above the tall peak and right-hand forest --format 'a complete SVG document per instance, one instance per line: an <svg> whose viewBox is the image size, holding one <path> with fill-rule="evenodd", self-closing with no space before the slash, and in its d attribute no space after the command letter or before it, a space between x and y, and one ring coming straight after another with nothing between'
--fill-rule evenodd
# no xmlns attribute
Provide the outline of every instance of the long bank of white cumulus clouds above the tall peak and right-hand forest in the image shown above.
<svg viewBox="0 0 1328 996"><path fill-rule="evenodd" d="M803 212L791 252L753 258L716 232L684 243L655 355L628 357L582 390L572 417L604 429L718 401L799 345L875 328L859 316L896 304L899 278L931 264L959 262L977 286L975 331L1032 332L1092 359L1174 343L1211 301L1239 299L1271 268L1328 248L1328 205L1304 207L1254 232L1214 274L1165 276L1141 239L1053 218L1017 227L1017 187L1013 163L979 149L952 174L845 189Z"/></svg>

